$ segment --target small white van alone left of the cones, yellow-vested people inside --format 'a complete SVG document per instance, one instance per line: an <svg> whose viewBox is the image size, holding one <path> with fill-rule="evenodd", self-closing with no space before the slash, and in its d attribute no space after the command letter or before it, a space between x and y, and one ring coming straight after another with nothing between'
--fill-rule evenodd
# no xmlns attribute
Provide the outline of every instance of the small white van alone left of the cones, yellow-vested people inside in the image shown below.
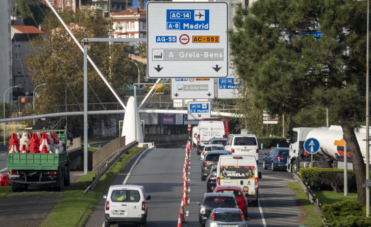
<svg viewBox="0 0 371 227"><path fill-rule="evenodd" d="M141 227L147 226L147 200L151 197L144 191L141 185L111 185L104 209L104 227L116 223L137 223Z"/></svg>

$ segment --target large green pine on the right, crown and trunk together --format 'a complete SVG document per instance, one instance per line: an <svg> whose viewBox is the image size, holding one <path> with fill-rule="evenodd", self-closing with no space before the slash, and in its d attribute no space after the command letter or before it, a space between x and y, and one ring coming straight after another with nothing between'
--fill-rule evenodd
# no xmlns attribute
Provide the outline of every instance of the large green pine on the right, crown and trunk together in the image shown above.
<svg viewBox="0 0 371 227"><path fill-rule="evenodd" d="M325 126L325 108L343 128L365 204L366 168L354 129L365 113L366 4L353 0L258 0L239 7L229 32L237 74L254 105ZM322 31L322 37L315 32Z"/></svg>

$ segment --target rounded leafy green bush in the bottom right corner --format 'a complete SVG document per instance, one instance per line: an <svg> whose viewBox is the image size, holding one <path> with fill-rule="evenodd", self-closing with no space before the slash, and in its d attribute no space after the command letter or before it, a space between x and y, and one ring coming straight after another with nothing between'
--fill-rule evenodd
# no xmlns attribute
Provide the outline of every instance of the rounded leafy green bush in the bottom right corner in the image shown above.
<svg viewBox="0 0 371 227"><path fill-rule="evenodd" d="M371 227L371 218L356 201L342 201L323 205L322 218L328 227Z"/></svg>

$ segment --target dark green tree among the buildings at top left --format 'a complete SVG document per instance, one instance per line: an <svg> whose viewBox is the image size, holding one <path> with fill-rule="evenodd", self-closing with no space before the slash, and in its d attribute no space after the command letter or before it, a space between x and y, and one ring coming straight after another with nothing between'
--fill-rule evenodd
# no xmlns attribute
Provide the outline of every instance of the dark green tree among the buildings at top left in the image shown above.
<svg viewBox="0 0 371 227"><path fill-rule="evenodd" d="M44 19L44 14L35 0L19 0L17 7L25 25L37 27Z"/></svg>

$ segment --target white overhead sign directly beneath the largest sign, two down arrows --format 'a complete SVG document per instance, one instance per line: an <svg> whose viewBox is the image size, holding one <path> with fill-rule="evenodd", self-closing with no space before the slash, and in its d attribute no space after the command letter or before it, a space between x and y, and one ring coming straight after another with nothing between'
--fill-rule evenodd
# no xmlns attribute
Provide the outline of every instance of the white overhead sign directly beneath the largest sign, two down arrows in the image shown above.
<svg viewBox="0 0 371 227"><path fill-rule="evenodd" d="M172 99L214 99L213 78L172 78Z"/></svg>

